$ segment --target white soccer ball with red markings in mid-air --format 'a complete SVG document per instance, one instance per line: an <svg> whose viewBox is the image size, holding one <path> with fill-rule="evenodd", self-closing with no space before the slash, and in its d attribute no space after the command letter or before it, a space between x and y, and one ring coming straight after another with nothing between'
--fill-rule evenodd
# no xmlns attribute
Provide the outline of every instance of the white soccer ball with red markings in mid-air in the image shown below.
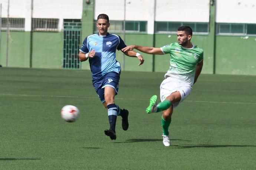
<svg viewBox="0 0 256 170"><path fill-rule="evenodd" d="M75 122L79 116L79 110L76 106L66 105L61 109L61 117L66 122Z"/></svg>

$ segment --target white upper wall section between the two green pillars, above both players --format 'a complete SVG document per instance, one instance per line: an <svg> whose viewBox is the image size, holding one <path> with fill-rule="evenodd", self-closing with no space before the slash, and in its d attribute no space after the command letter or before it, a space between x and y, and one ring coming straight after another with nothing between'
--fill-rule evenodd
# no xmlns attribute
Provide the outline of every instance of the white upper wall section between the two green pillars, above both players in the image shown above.
<svg viewBox="0 0 256 170"><path fill-rule="evenodd" d="M105 13L109 20L148 21L148 33L154 33L154 21L209 22L210 0L95 0L94 19ZM125 11L125 14L124 14ZM124 18L125 17L125 18Z"/></svg>

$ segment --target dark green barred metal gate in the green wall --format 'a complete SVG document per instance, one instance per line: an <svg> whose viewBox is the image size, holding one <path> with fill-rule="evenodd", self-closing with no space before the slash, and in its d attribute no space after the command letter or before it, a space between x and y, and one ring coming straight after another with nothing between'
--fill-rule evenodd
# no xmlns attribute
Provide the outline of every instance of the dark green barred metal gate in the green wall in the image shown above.
<svg viewBox="0 0 256 170"><path fill-rule="evenodd" d="M79 69L81 20L64 19L63 68Z"/></svg>

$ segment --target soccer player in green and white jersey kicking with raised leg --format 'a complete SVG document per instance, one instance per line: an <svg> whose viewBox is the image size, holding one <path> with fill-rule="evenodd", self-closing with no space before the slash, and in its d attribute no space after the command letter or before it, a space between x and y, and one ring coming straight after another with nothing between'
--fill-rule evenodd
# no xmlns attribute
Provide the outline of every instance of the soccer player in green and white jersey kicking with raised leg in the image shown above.
<svg viewBox="0 0 256 170"><path fill-rule="evenodd" d="M177 107L190 94L193 85L203 68L203 50L192 44L192 29L189 26L181 26L177 31L178 43L171 43L161 48L129 45L122 51L137 49L147 54L170 54L170 68L160 85L160 99L157 103L157 95L150 98L147 113L161 112L164 146L170 146L169 126L173 109Z"/></svg>

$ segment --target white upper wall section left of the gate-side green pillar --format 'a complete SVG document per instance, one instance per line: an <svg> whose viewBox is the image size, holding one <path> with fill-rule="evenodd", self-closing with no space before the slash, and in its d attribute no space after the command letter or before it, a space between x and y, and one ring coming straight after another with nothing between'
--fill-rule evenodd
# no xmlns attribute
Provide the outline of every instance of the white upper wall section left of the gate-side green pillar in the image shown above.
<svg viewBox="0 0 256 170"><path fill-rule="evenodd" d="M31 30L32 0L10 0L9 17L25 18L25 31ZM7 17L8 0L2 3L2 17ZM33 18L59 18L59 30L63 19L81 19L83 0L33 0Z"/></svg>

